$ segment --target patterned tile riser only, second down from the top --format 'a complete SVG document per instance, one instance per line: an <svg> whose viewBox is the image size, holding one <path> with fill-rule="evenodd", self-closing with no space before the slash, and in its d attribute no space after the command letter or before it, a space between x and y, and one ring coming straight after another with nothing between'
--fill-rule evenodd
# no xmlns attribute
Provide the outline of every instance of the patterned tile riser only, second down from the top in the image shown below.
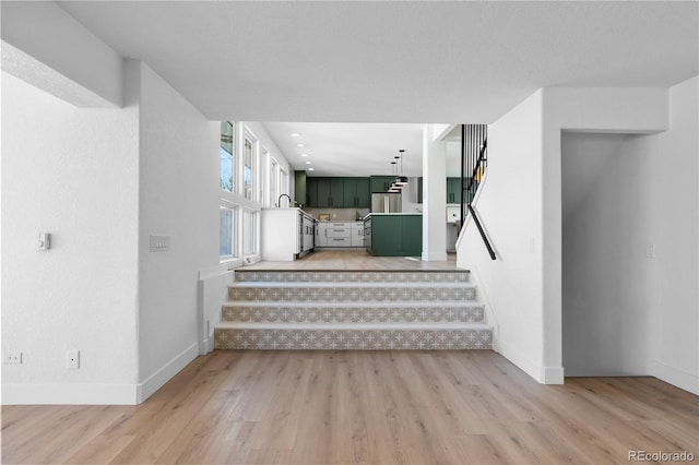
<svg viewBox="0 0 699 465"><path fill-rule="evenodd" d="M475 300L473 287L229 287L229 300L251 301L439 301Z"/></svg>

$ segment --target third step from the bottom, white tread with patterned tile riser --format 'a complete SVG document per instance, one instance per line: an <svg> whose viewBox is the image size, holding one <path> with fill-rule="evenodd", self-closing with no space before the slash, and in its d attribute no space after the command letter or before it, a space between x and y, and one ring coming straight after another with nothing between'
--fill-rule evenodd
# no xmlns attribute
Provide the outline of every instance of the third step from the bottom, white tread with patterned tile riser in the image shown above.
<svg viewBox="0 0 699 465"><path fill-rule="evenodd" d="M256 301L445 301L475 300L467 283L236 283L229 300Z"/></svg>

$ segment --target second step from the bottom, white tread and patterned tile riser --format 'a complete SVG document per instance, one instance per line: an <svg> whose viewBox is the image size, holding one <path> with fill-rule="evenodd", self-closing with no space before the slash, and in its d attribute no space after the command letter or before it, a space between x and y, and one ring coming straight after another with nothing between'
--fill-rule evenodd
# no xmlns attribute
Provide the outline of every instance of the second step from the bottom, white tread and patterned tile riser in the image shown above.
<svg viewBox="0 0 699 465"><path fill-rule="evenodd" d="M227 302L222 309L223 321L288 322L288 323L412 323L412 322L482 322L483 306L473 301L440 302L343 302L341 307L327 302Z"/></svg>

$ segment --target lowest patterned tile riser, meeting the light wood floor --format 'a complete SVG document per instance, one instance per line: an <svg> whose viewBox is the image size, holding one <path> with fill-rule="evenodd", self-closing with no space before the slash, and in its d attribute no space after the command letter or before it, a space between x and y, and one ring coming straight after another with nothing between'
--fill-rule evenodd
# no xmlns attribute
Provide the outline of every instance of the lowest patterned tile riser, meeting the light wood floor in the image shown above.
<svg viewBox="0 0 699 465"><path fill-rule="evenodd" d="M216 329L216 349L491 349L488 330L230 330Z"/></svg>

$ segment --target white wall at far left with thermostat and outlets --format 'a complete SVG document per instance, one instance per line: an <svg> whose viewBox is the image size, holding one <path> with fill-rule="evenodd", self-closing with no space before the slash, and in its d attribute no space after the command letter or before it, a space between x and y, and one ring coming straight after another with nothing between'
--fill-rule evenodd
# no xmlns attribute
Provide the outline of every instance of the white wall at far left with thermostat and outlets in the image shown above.
<svg viewBox="0 0 699 465"><path fill-rule="evenodd" d="M138 130L2 74L3 403L135 402Z"/></svg>

